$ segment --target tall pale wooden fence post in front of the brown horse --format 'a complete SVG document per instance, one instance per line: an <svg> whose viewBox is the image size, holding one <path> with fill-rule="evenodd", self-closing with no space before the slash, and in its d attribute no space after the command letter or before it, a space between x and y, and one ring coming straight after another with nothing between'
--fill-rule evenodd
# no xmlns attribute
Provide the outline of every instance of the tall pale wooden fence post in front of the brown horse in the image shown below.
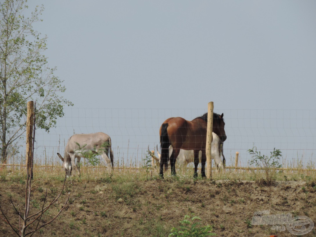
<svg viewBox="0 0 316 237"><path fill-rule="evenodd" d="M213 140L213 110L214 103L210 102L208 104L207 113L207 132L206 132L206 178L210 179L212 177L212 140Z"/></svg>

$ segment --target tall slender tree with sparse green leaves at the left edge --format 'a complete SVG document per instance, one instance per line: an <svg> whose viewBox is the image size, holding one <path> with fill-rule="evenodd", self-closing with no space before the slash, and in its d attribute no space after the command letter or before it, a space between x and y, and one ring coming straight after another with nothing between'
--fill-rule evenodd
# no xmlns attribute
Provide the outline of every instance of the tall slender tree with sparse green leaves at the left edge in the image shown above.
<svg viewBox="0 0 316 237"><path fill-rule="evenodd" d="M63 82L54 75L42 54L47 37L33 30L44 10L38 6L25 17L26 0L0 2L0 140L1 160L6 163L10 147L25 132L27 101L37 104L37 127L49 132L57 117L64 116L64 105L73 105L60 96Z"/></svg>

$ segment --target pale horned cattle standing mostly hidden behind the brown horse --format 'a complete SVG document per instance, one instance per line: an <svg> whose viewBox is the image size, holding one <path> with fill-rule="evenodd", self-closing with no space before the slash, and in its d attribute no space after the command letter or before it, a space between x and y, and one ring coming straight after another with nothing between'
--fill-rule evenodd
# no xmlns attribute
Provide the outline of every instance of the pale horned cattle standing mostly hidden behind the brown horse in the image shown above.
<svg viewBox="0 0 316 237"><path fill-rule="evenodd" d="M212 141L212 149L211 149L211 155L212 159L214 159L215 166L216 168L222 168L223 163L221 161L221 153L222 153L222 142L221 139L216 135L216 133L212 133L213 135L213 141ZM149 151L149 149L148 149ZM169 147L169 157L171 156L173 151L172 146ZM152 154L152 157L157 161L160 162L160 156L161 154L158 151L158 146L157 146L157 154L158 157L155 157L153 155L153 152L150 152ZM224 156L223 156L224 157ZM201 159L201 152L199 152L199 159ZM194 161L194 152L193 150L183 150L180 149L179 155L176 159L176 165L178 167L186 167L188 163L191 163Z"/></svg>

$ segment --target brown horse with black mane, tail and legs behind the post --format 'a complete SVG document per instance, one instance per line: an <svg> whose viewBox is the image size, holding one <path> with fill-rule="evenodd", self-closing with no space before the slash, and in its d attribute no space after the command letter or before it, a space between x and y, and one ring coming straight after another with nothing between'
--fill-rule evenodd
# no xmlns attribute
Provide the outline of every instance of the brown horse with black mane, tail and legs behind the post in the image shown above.
<svg viewBox="0 0 316 237"><path fill-rule="evenodd" d="M226 140L224 130L224 114L213 113L213 132L219 136L222 142ZM197 165L199 162L198 153L202 151L202 169L201 175L205 177L206 162L206 131L207 131L207 113L197 117L192 121L181 117L168 118L160 127L160 145L161 162L159 175L163 178L163 167L168 167L169 146L172 145L173 151L170 156L171 175L176 175L175 162L180 149L194 151L194 175L197 177Z"/></svg>

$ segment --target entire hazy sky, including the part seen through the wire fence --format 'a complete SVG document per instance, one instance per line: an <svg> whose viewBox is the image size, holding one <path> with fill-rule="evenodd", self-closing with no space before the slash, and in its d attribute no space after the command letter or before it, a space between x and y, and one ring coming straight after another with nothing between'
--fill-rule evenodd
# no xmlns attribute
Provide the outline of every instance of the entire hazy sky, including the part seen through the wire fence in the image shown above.
<svg viewBox="0 0 316 237"><path fill-rule="evenodd" d="M136 152L159 142L168 116L191 120L213 101L226 156L254 142L315 153L315 1L32 0L28 10L41 4L33 28L48 36L44 54L74 104L45 146L102 129Z"/></svg>

